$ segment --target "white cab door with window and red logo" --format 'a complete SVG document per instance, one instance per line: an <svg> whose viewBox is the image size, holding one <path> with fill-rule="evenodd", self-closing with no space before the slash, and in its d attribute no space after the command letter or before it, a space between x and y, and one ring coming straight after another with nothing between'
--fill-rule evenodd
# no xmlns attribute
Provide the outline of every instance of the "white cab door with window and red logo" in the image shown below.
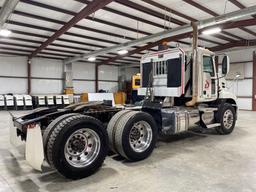
<svg viewBox="0 0 256 192"><path fill-rule="evenodd" d="M204 99L217 98L217 76L214 63L213 55L203 54L202 94Z"/></svg>

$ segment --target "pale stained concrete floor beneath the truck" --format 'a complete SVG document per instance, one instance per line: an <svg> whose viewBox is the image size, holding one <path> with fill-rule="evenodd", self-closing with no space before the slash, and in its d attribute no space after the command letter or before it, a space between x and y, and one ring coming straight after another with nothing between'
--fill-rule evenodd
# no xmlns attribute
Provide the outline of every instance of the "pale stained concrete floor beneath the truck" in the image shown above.
<svg viewBox="0 0 256 192"><path fill-rule="evenodd" d="M146 160L107 157L91 177L70 181L39 173L9 143L9 115L0 112L0 192L256 191L256 113L239 112L228 136L187 133L165 138Z"/></svg>

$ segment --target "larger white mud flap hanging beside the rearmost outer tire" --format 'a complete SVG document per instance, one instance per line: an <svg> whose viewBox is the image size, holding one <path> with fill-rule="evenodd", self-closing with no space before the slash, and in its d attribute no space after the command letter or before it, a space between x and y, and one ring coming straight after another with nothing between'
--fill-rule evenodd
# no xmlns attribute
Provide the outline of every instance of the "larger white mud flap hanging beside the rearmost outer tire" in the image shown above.
<svg viewBox="0 0 256 192"><path fill-rule="evenodd" d="M36 170L42 171L44 161L43 138L39 125L27 129L26 160Z"/></svg>

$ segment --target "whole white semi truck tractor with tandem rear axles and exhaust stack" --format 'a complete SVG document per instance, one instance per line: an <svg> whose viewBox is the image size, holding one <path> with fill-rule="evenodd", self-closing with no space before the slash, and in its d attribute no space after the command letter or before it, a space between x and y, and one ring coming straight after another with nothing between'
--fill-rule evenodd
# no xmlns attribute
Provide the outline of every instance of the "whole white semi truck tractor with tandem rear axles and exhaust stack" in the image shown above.
<svg viewBox="0 0 256 192"><path fill-rule="evenodd" d="M236 97L225 76L229 58L217 70L215 55L197 46L146 54L140 63L141 107L121 110L104 102L39 108L13 117L11 142L26 143L26 160L42 170L45 160L61 175L79 179L101 167L109 148L130 161L147 158L159 134L195 127L230 134L237 120Z"/></svg>

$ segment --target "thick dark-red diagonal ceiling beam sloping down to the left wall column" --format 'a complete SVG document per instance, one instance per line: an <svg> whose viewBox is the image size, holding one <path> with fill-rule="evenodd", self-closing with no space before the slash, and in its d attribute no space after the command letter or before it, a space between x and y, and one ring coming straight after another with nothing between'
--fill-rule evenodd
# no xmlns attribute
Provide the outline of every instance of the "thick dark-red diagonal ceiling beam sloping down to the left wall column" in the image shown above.
<svg viewBox="0 0 256 192"><path fill-rule="evenodd" d="M44 48L50 45L53 41L58 39L61 35L67 32L71 27L73 27L77 22L83 18L89 16L90 14L96 12L97 10L105 7L107 4L111 3L113 0L94 0L90 2L85 8L83 8L77 15L75 15L70 21L63 25L58 31L56 31L49 39L40 45L35 51L33 51L30 57L36 56Z"/></svg>

